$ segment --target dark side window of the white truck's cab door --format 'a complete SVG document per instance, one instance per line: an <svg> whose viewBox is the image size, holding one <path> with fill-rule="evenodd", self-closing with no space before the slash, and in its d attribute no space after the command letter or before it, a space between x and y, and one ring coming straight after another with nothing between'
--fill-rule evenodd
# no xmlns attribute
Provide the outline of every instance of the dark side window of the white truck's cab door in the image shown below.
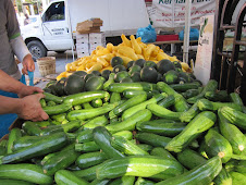
<svg viewBox="0 0 246 185"><path fill-rule="evenodd" d="M65 20L64 1L52 3L42 15L44 22Z"/></svg>

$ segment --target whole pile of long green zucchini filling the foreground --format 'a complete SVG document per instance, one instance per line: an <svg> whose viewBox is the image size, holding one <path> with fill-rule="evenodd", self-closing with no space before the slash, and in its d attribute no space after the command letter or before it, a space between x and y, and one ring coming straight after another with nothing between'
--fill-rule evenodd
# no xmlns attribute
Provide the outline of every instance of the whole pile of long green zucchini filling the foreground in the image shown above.
<svg viewBox="0 0 246 185"><path fill-rule="evenodd" d="M50 119L26 121L0 141L0 184L243 184L246 109L217 88L111 83L45 92Z"/></svg>

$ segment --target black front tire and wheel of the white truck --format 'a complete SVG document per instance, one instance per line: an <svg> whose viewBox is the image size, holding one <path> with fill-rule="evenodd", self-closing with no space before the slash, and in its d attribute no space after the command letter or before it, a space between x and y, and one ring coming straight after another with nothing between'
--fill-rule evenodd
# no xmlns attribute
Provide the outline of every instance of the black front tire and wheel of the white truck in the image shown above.
<svg viewBox="0 0 246 185"><path fill-rule="evenodd" d="M47 55L47 49L39 40L33 40L27 44L27 48L33 55L34 61Z"/></svg>

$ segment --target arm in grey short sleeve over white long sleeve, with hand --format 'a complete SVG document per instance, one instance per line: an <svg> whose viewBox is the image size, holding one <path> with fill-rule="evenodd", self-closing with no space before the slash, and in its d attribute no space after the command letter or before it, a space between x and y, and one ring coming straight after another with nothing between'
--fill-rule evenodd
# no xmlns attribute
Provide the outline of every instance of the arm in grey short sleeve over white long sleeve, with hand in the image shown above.
<svg viewBox="0 0 246 185"><path fill-rule="evenodd" d="M11 47L13 49L14 54L23 64L23 73L27 74L27 71L33 72L35 70L35 64L32 54L29 53L21 36L19 22L11 0L7 2L5 11L8 18L7 30Z"/></svg>

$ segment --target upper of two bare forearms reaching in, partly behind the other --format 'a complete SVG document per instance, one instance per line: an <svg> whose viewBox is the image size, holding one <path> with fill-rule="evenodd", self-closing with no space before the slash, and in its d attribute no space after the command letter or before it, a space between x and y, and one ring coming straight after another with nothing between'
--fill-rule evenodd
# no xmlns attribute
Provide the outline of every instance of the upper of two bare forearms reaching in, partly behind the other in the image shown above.
<svg viewBox="0 0 246 185"><path fill-rule="evenodd" d="M0 70L0 78L1 78L0 90L17 94L19 97L21 98L32 95L35 91L42 92L40 88L26 86L21 82L14 79L13 77L9 76L7 73L4 73L1 70Z"/></svg>

